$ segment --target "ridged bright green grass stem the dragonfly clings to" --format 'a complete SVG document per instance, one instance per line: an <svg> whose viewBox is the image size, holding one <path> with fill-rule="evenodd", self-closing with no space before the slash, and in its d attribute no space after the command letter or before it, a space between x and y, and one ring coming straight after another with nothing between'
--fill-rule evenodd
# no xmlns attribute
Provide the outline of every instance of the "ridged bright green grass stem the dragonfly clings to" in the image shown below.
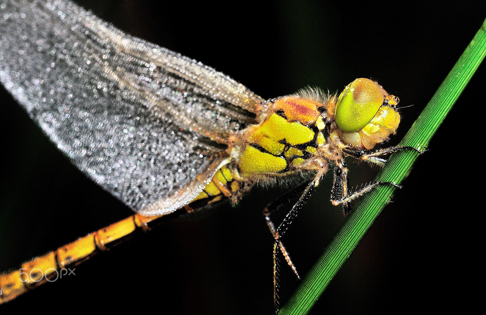
<svg viewBox="0 0 486 315"><path fill-rule="evenodd" d="M430 139L469 83L485 54L486 20L399 145L427 148ZM407 177L418 156L417 152L408 150L392 154L375 181L399 184ZM382 185L364 196L294 296L282 307L280 315L307 314L310 311L381 213L389 200L388 196L392 196L394 190L395 187Z"/></svg>

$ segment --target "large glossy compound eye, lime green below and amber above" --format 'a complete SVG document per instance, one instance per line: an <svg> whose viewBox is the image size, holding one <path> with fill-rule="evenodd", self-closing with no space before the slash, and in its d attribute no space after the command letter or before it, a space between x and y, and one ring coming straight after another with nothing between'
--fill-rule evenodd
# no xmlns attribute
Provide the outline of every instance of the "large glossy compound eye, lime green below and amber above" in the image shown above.
<svg viewBox="0 0 486 315"><path fill-rule="evenodd" d="M382 86L369 79L356 79L346 86L336 105L337 127L344 132L355 132L373 119L387 93Z"/></svg>

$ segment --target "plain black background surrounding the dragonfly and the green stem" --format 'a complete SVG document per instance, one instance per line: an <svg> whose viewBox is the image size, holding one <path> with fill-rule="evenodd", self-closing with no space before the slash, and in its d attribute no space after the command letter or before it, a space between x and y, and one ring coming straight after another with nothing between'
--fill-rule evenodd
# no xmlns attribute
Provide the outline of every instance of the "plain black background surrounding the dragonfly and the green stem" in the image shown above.
<svg viewBox="0 0 486 315"><path fill-rule="evenodd" d="M127 33L223 71L265 99L307 85L338 92L358 77L377 80L399 96L400 106L414 105L401 110L389 142L395 145L481 26L486 3L390 2L80 1ZM430 151L313 314L438 313L472 305L471 284L482 274L481 160L473 156L484 138L476 129L484 117L485 73L480 66ZM0 93L0 270L131 215L70 165L3 88ZM351 167L355 186L376 175L365 165ZM329 202L331 178L286 234L303 275L345 221ZM261 210L284 189L257 187L236 208L223 204L169 222L1 308L133 305L167 314L271 314L273 239ZM283 269L282 302L297 284Z"/></svg>

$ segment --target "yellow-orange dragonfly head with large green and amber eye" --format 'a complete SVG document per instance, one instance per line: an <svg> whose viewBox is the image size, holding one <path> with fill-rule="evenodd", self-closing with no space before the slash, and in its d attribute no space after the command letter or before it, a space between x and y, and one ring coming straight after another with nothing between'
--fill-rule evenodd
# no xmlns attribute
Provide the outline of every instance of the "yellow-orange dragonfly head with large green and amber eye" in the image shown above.
<svg viewBox="0 0 486 315"><path fill-rule="evenodd" d="M372 149L395 133L400 122L399 99L369 79L356 79L339 95L335 122L340 138L356 149Z"/></svg>

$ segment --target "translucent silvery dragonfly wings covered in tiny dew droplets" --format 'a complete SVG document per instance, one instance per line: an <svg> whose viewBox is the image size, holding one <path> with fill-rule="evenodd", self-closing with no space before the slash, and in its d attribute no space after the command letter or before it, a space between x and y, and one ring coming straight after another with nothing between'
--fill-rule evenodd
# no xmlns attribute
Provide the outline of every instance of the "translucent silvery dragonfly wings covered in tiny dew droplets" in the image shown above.
<svg viewBox="0 0 486 315"><path fill-rule="evenodd" d="M262 103L68 1L0 6L0 80L71 161L145 215L196 197Z"/></svg>

